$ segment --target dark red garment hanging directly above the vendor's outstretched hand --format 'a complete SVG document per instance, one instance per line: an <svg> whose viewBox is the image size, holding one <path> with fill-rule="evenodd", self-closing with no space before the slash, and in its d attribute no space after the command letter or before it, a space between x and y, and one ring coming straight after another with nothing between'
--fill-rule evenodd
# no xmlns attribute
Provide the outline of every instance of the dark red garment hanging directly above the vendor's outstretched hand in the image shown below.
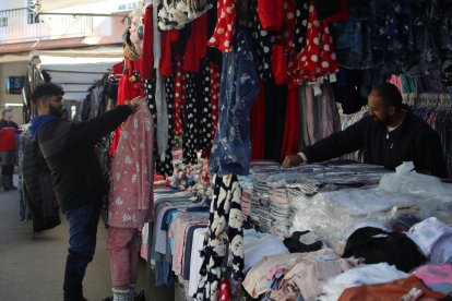
<svg viewBox="0 0 452 301"><path fill-rule="evenodd" d="M284 159L286 155L296 154L298 152L300 140L298 88L299 87L292 87L287 91L286 123L284 124L281 159Z"/></svg>

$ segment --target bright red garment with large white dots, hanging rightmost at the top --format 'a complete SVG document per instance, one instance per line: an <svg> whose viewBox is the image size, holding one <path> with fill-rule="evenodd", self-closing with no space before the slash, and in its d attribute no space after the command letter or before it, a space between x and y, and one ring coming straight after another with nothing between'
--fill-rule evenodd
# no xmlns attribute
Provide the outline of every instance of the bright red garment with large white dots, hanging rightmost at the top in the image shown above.
<svg viewBox="0 0 452 301"><path fill-rule="evenodd" d="M314 82L318 77L337 70L338 64L329 26L319 20L311 0L306 45L299 53L290 57L288 63L289 85L299 85L304 80Z"/></svg>

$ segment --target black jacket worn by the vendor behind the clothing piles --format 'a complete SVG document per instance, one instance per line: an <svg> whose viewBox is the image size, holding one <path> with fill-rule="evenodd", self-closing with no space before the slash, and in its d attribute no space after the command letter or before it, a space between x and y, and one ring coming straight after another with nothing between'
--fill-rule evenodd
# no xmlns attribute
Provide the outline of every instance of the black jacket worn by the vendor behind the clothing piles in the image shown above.
<svg viewBox="0 0 452 301"><path fill-rule="evenodd" d="M361 148L367 164L395 169L403 161L413 161L419 172L448 177L438 133L411 110L406 111L403 123L391 132L368 116L346 130L307 146L302 153L309 161L317 162Z"/></svg>

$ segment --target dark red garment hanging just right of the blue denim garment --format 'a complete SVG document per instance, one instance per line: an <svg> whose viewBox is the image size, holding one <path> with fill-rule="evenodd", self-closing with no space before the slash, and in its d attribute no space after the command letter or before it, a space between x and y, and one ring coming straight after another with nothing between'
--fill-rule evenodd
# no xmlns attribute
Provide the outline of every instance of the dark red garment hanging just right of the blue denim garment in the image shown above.
<svg viewBox="0 0 452 301"><path fill-rule="evenodd" d="M251 106L251 159L265 158L265 88L260 81L259 95Z"/></svg>

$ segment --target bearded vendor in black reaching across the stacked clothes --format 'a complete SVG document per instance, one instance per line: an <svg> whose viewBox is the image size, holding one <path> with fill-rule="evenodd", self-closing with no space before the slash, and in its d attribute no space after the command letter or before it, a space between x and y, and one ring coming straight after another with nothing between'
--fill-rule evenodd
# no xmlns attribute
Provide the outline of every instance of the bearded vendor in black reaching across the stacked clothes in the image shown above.
<svg viewBox="0 0 452 301"><path fill-rule="evenodd" d="M286 156L283 166L318 162L362 148L366 164L395 169L403 161L413 161L418 172L448 177L438 133L402 105L397 87L389 83L374 87L367 104L367 117L297 155Z"/></svg>

